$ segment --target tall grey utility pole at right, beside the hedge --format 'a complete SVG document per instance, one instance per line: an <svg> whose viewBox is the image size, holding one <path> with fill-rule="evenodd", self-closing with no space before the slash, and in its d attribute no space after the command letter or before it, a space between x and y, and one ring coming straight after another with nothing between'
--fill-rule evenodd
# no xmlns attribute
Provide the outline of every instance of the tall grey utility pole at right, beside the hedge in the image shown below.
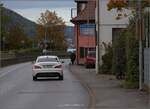
<svg viewBox="0 0 150 109"><path fill-rule="evenodd" d="M137 1L137 36L139 38L139 90L143 89L143 47L142 47L142 16L141 0Z"/></svg>

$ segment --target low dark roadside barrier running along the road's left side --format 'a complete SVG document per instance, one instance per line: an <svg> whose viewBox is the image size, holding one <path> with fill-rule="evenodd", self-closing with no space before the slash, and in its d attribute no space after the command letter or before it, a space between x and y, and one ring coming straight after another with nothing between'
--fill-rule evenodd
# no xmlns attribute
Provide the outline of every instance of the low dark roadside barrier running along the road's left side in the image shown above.
<svg viewBox="0 0 150 109"><path fill-rule="evenodd" d="M0 67L8 65L34 61L37 56L43 55L41 52L34 53L15 53L15 52L0 52ZM67 58L69 55L65 51L51 51L47 55L57 55L59 58Z"/></svg>

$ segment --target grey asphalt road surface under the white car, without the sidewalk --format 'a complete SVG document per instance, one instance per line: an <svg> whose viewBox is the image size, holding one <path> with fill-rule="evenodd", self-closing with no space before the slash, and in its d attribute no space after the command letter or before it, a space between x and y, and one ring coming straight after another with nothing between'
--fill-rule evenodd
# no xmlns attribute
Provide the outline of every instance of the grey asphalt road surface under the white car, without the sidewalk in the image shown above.
<svg viewBox="0 0 150 109"><path fill-rule="evenodd" d="M64 80L32 81L32 64L0 71L0 109L87 109L88 92L64 63Z"/></svg>

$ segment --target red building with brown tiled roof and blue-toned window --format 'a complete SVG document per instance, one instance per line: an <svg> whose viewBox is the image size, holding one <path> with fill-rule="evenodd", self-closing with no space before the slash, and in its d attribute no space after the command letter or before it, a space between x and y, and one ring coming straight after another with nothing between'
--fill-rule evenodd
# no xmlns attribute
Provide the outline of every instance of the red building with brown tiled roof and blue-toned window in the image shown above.
<svg viewBox="0 0 150 109"><path fill-rule="evenodd" d="M77 64L84 64L88 51L95 50L95 0L75 0L77 15L71 22L75 25Z"/></svg>

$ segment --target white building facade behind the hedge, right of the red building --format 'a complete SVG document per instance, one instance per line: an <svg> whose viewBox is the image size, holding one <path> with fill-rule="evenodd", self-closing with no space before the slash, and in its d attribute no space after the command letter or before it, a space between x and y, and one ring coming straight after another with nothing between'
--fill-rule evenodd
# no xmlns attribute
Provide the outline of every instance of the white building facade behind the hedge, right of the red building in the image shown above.
<svg viewBox="0 0 150 109"><path fill-rule="evenodd" d="M109 0L97 0L96 2L97 68L102 65L102 56L105 54L104 44L113 44L117 33L125 29L129 22L128 17L117 20L118 13L116 9L109 11L108 3ZM130 16L131 11L125 9L124 13Z"/></svg>

